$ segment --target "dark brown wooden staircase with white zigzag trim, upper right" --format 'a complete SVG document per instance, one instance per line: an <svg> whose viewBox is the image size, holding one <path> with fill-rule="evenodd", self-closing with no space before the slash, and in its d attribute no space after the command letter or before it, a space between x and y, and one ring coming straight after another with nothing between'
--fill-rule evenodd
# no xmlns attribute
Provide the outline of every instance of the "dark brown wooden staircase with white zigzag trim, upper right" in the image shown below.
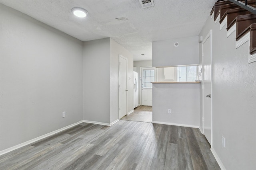
<svg viewBox="0 0 256 170"><path fill-rule="evenodd" d="M210 13L215 23L220 23L220 30L226 26L227 37L236 31L236 48L249 41L248 63L256 61L255 8L256 0L218 0Z"/></svg>

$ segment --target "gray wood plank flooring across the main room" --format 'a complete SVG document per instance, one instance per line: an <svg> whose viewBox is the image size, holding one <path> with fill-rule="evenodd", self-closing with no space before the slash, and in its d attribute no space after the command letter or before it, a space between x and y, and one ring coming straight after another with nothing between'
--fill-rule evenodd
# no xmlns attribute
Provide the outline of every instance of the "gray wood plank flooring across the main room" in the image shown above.
<svg viewBox="0 0 256 170"><path fill-rule="evenodd" d="M1 170L220 170L199 129L81 123L0 156Z"/></svg>

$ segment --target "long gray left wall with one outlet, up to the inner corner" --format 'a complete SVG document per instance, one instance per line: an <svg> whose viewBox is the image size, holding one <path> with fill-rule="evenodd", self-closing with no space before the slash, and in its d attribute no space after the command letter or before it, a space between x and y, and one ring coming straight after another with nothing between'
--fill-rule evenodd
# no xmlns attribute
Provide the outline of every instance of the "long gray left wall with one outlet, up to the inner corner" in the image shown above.
<svg viewBox="0 0 256 170"><path fill-rule="evenodd" d="M82 120L83 43L2 4L0 14L4 150Z"/></svg>

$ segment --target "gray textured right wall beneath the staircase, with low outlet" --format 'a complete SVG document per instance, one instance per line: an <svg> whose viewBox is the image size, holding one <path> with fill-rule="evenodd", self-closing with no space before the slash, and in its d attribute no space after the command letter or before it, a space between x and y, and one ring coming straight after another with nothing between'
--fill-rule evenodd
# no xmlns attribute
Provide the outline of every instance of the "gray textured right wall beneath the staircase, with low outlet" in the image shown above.
<svg viewBox="0 0 256 170"><path fill-rule="evenodd" d="M213 146L228 170L252 170L256 163L256 62L248 64L248 42L235 49L235 32L226 37L208 18L200 36L212 29ZM201 48L200 48L201 50ZM201 52L200 52L201 53ZM201 120L202 121L202 120ZM222 148L222 135L226 147Z"/></svg>

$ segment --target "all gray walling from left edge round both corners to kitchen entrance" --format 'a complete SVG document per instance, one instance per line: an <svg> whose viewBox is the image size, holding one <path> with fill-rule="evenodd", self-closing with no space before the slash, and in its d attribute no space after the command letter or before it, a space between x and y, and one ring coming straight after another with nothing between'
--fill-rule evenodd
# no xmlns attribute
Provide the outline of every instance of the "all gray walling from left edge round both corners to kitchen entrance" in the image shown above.
<svg viewBox="0 0 256 170"><path fill-rule="evenodd" d="M0 150L83 119L118 119L119 54L132 111L133 56L114 40L83 43L1 4L0 41Z"/></svg>

